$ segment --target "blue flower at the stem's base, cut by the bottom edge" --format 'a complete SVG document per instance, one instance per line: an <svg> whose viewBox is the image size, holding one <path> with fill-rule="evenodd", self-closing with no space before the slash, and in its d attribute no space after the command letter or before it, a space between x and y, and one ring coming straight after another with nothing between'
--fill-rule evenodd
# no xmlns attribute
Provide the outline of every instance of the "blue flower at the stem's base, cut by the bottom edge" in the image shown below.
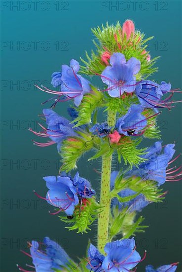
<svg viewBox="0 0 182 272"><path fill-rule="evenodd" d="M102 269L105 272L128 272L142 261L135 248L134 239L107 243L104 247L107 255L103 260Z"/></svg>

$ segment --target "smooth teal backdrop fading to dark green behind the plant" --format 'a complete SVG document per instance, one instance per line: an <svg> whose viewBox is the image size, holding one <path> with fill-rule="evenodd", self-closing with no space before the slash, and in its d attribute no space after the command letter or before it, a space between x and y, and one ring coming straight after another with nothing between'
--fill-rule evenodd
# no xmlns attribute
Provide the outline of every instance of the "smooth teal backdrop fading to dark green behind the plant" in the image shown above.
<svg viewBox="0 0 182 272"><path fill-rule="evenodd" d="M18 2L20 8L13 6ZM122 24L130 18L137 29L146 33L146 37L155 36L150 42L151 55L160 55L161 59L158 61L159 72L151 79L170 81L173 88L182 88L180 0L136 1L135 10L133 1L37 1L36 9L34 1L29 2L30 6L26 2L0 3L2 272L17 271L16 263L24 268L26 263L31 264L31 260L20 252L21 248L26 250L26 240L41 241L43 237L49 236L61 243L69 255L75 258L85 254L88 238L92 243L95 243L96 238L95 225L89 234L68 232L56 216L48 214L52 207L33 194L33 189L40 195L46 194L42 177L56 175L59 160L55 146L42 149L33 146L31 139L39 138L27 131L30 126L38 129L35 123L43 109L41 102L50 98L50 95L36 90L33 83L50 82L52 72L60 69L62 64L68 64L71 58L79 60L85 50L90 52L94 48L91 27L107 21L115 24L117 20ZM47 11L45 2L50 7ZM112 6L114 3L118 6ZM102 7L103 4L107 6ZM144 10L146 7L148 9ZM34 48L33 41L39 41L37 48ZM44 42L41 46L43 41L48 43ZM57 41L59 47L56 47ZM19 45L12 47L12 43ZM46 50L47 44L50 48ZM26 49L26 45L31 46ZM14 86L15 83L18 86ZM176 94L175 98L180 100L180 96ZM46 107L49 106L47 103ZM60 103L56 111L67 116L66 107L66 103ZM15 123L17 125L13 125ZM180 153L181 104L171 112L164 109L159 123L162 126L163 143L175 141L176 154ZM145 145L150 142L145 141ZM86 159L87 156L79 162L80 175L88 178L98 191L99 175L93 169L99 169L100 162L88 163ZM180 159L176 164L180 165ZM181 261L182 183L166 182L164 190L169 191L166 202L158 206L152 204L143 211L145 223L150 228L145 234L137 235L137 249L141 255L145 249L148 253L146 260L138 265L138 272L144 272L146 264L157 267ZM181 271L180 266L177 271Z"/></svg>

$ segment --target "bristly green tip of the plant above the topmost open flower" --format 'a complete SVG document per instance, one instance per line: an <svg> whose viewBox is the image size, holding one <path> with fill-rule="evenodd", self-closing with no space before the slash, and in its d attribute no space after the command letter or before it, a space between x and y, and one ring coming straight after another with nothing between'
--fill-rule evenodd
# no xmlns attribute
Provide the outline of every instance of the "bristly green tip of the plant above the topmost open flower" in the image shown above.
<svg viewBox="0 0 182 272"><path fill-rule="evenodd" d="M131 35L130 39L127 40L126 37L121 37L122 28L119 22L117 22L115 26L109 26L108 23L106 23L106 26L102 25L102 28L93 28L91 31L97 38L97 42L93 40L96 51L94 52L92 50L91 56L86 52L87 60L81 58L85 64L85 66L81 66L81 73L90 76L96 73L101 74L106 67L104 62L101 61L101 55L105 51L110 54L114 52L123 53L126 60L129 60L131 57L140 60L141 70L137 75L137 80L141 78L146 79L157 71L157 68L153 66L159 57L153 58L150 61L146 59L146 55L149 53L149 51L146 51L148 47L146 43L153 39L153 37L145 39L145 35L136 30L135 35ZM143 53L143 51L146 52Z"/></svg>

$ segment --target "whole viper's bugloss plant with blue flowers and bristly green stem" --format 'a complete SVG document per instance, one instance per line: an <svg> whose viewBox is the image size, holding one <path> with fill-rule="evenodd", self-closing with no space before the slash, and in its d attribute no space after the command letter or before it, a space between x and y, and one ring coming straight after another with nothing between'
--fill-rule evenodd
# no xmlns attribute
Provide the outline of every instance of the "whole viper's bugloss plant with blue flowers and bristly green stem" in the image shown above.
<svg viewBox="0 0 182 272"><path fill-rule="evenodd" d="M46 127L42 131L29 129L36 136L48 138L48 142L33 141L37 146L57 144L61 156L59 173L44 177L48 188L44 199L53 206L66 228L77 232L91 230L97 221L97 245L89 242L87 256L75 263L57 243L49 238L43 243L29 243L36 272L128 272L136 271L136 266L146 257L136 250L134 236L144 232L142 209L154 202L162 202L166 197L163 184L181 180L181 167L171 166L180 155L175 153L175 144L162 145L158 115L162 109L171 109L172 100L178 89L171 84L160 84L147 78L157 71L155 62L147 50L147 42L152 39L135 29L131 20L121 27L108 25L92 29L96 36L96 50L86 59L71 59L70 66L62 65L61 70L52 74L52 85L57 90L44 86L38 89L50 93L43 104L53 101L50 109L43 109ZM100 77L100 88L86 77ZM59 116L52 108L60 102L69 101L70 120ZM99 122L97 113L107 115ZM151 147L142 148L141 142L158 139ZM95 194L90 181L80 177L77 162L86 152L93 150L88 160L102 162L100 199ZM113 169L115 162L119 169ZM112 169L112 171L111 171ZM49 219L51 220L51 218ZM59 222L57 222L59 224ZM116 239L117 237L117 239ZM95 244L95 242L94 242ZM44 248L42 248L44 246ZM28 270L20 267L19 270ZM146 267L146 272L174 272L177 263L154 269Z"/></svg>

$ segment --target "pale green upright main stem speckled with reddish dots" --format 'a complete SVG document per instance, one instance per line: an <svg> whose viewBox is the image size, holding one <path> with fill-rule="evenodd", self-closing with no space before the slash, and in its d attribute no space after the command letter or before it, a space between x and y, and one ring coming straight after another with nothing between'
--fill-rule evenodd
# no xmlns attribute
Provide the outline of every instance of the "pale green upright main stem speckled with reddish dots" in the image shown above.
<svg viewBox="0 0 182 272"><path fill-rule="evenodd" d="M116 112L108 111L107 122L109 126L115 126ZM109 216L110 216L110 177L111 177L112 155L102 157L102 176L100 188L101 213L98 215L98 249L103 252L108 241Z"/></svg>

